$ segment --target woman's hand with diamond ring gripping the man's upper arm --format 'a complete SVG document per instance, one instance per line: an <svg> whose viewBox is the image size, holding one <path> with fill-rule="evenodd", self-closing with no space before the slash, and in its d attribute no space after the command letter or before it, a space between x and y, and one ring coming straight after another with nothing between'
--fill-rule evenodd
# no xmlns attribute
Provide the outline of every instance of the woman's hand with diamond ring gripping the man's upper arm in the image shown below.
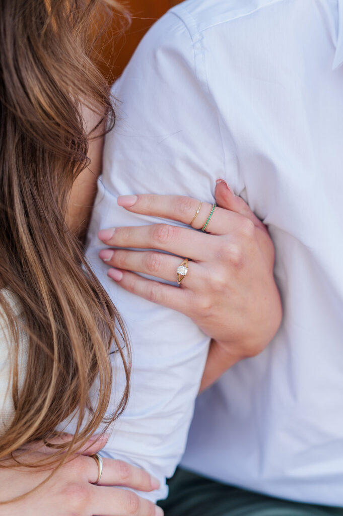
<svg viewBox="0 0 343 516"><path fill-rule="evenodd" d="M273 278L274 247L264 224L248 205L228 189L216 188L218 206L206 233L194 231L205 224L211 205L203 203L192 228L169 224L123 227L99 232L99 238L116 248L100 257L108 276L127 291L188 315L213 338L202 388L233 363L253 357L267 346L280 326L282 309ZM199 200L177 196L122 196L118 204L130 212L190 224ZM176 281L176 267L187 257L189 270L181 288L148 280L142 272Z"/></svg>

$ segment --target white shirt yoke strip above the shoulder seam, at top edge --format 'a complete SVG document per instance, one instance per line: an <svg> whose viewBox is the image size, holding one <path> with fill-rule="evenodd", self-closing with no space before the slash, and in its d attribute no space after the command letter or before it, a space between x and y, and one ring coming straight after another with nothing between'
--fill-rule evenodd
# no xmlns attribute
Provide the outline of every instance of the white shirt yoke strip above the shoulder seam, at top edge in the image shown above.
<svg viewBox="0 0 343 516"><path fill-rule="evenodd" d="M243 19L254 12L287 0L186 0L173 7L173 12L181 18L192 33Z"/></svg>

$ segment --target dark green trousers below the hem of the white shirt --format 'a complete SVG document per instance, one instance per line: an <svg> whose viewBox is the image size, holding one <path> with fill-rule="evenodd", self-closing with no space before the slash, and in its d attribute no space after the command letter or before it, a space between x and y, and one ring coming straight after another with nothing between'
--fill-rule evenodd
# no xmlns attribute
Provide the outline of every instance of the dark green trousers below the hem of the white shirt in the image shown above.
<svg viewBox="0 0 343 516"><path fill-rule="evenodd" d="M343 508L271 498L182 469L168 483L169 496L159 502L165 516L343 516Z"/></svg>

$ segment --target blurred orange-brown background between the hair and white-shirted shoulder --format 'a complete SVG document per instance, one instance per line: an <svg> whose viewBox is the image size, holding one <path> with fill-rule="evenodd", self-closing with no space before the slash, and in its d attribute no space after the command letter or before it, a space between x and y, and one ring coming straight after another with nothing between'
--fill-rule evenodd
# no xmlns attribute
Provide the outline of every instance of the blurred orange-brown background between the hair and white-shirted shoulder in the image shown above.
<svg viewBox="0 0 343 516"><path fill-rule="evenodd" d="M132 24L124 35L118 36L118 23L112 26L97 43L100 68L111 84L119 77L136 46L151 27L168 9L181 0L126 0L125 5L132 15Z"/></svg>

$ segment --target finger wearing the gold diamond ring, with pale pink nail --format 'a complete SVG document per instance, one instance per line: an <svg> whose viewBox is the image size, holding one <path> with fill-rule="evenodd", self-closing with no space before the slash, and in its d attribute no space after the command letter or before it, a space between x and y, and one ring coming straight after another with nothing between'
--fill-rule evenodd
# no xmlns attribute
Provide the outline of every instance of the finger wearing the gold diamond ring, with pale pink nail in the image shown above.
<svg viewBox="0 0 343 516"><path fill-rule="evenodd" d="M162 280L176 282L176 268L183 258L157 251L127 251L126 249L102 249L99 257L109 266L142 272ZM191 287L192 280L199 276L201 267L197 262L190 262L191 275L186 275L183 286Z"/></svg>

